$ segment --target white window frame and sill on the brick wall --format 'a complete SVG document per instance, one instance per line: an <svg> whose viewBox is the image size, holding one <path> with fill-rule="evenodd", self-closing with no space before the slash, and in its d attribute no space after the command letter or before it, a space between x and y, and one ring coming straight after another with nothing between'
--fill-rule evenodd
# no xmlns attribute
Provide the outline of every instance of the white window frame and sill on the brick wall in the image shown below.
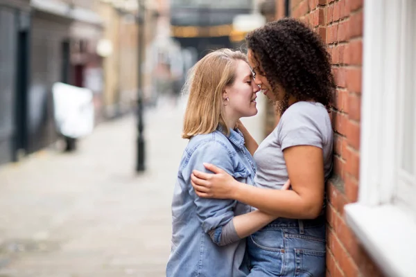
<svg viewBox="0 0 416 277"><path fill-rule="evenodd" d="M383 273L394 277L415 276L416 269L415 214L395 201L398 101L405 89L400 72L416 62L400 55L407 47L404 34L415 31L404 22L411 1L364 1L360 186L358 202L345 206L358 240Z"/></svg>

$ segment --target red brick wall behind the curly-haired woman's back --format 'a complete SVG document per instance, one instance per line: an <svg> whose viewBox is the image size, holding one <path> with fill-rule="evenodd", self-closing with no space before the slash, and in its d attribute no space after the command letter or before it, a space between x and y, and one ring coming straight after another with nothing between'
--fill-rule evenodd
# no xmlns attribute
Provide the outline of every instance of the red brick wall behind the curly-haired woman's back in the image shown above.
<svg viewBox="0 0 416 277"><path fill-rule="evenodd" d="M276 0L281 7L282 0ZM291 17L305 21L327 43L337 89L331 112L334 177L327 193L327 276L381 276L345 224L345 204L356 202L360 163L363 0L291 0ZM279 9L277 18L282 17Z"/></svg>

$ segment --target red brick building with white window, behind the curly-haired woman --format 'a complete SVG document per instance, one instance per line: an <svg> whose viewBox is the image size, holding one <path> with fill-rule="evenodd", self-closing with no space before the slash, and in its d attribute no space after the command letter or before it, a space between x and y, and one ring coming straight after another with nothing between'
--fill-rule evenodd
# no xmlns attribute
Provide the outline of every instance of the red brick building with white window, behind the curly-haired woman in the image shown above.
<svg viewBox="0 0 416 277"><path fill-rule="evenodd" d="M274 14L305 21L331 53L327 276L414 276L416 2L276 0Z"/></svg>

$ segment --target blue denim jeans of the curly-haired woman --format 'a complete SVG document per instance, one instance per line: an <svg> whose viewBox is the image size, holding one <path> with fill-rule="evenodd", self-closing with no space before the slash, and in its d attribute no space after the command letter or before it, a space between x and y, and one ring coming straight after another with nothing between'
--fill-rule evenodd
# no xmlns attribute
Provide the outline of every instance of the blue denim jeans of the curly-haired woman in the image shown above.
<svg viewBox="0 0 416 277"><path fill-rule="evenodd" d="M248 276L325 276L325 218L279 218L247 240Z"/></svg>

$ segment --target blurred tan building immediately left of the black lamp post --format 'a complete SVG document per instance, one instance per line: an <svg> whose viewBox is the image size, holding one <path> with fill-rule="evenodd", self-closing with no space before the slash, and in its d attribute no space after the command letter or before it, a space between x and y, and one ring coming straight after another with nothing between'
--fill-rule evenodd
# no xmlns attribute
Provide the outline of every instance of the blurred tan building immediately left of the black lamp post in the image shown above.
<svg viewBox="0 0 416 277"><path fill-rule="evenodd" d="M104 20L103 116L112 118L129 111L137 93L137 1L101 0L98 12Z"/></svg>

